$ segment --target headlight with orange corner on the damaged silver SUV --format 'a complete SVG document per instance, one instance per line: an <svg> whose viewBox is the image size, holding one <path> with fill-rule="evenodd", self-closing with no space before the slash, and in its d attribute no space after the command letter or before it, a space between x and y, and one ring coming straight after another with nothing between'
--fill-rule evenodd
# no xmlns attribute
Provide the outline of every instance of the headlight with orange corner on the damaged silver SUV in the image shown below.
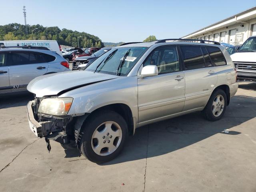
<svg viewBox="0 0 256 192"><path fill-rule="evenodd" d="M38 108L38 112L54 115L54 116L66 116L70 110L73 98L46 98L43 99Z"/></svg>

